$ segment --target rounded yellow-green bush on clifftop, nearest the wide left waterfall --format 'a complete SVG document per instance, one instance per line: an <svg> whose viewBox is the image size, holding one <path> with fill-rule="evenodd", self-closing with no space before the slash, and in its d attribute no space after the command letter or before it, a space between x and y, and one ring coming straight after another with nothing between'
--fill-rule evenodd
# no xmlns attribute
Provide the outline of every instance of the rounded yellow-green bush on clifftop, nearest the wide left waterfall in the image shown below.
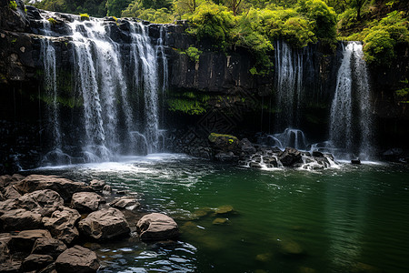
<svg viewBox="0 0 409 273"><path fill-rule="evenodd" d="M224 6L204 3L196 8L189 19L192 27L188 32L196 35L199 41L209 41L222 50L232 45L235 18Z"/></svg>

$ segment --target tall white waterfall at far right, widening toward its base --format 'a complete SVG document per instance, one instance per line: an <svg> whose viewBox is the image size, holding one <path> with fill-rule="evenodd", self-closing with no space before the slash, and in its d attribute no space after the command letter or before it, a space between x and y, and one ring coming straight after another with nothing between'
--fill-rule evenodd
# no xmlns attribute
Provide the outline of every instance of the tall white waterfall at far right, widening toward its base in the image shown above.
<svg viewBox="0 0 409 273"><path fill-rule="evenodd" d="M373 137L370 88L363 56L361 44L351 42L343 48L331 106L330 140L344 153L366 158L371 154Z"/></svg>

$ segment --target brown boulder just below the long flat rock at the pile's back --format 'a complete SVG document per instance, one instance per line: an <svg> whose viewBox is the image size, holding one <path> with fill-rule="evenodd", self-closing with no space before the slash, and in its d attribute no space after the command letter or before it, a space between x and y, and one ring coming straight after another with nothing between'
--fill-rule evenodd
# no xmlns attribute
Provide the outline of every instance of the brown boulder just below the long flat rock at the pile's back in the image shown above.
<svg viewBox="0 0 409 273"><path fill-rule="evenodd" d="M63 207L64 200L54 190L44 189L19 197L16 200L16 205L45 217L50 216L55 210Z"/></svg>

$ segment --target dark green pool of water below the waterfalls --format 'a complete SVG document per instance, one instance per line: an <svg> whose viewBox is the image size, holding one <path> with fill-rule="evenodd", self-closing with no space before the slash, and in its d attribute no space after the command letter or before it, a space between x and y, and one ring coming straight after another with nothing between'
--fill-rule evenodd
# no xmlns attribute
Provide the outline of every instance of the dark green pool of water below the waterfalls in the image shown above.
<svg viewBox="0 0 409 273"><path fill-rule="evenodd" d="M106 272L409 272L404 166L263 171L158 154L39 171L104 179L176 219L174 244L102 245ZM224 205L234 213L214 225L211 209Z"/></svg>

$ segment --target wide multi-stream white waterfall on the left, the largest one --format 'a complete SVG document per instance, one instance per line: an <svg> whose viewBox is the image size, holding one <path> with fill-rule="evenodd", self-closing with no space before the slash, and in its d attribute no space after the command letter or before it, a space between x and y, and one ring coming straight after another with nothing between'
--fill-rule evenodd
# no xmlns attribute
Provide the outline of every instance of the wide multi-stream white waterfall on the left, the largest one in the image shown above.
<svg viewBox="0 0 409 273"><path fill-rule="evenodd" d="M43 21L44 35L59 36ZM104 19L67 24L74 56L70 91L80 102L80 110L70 111L71 121L60 115L62 93L52 37L42 40L48 127L55 142L45 157L47 164L74 163L73 158L75 162L109 161L120 155L155 153L164 146L159 115L159 96L164 96L167 85L164 30L161 27L154 45L149 25L128 20L125 24L126 44L111 33L116 25ZM73 152L72 147L80 151Z"/></svg>

